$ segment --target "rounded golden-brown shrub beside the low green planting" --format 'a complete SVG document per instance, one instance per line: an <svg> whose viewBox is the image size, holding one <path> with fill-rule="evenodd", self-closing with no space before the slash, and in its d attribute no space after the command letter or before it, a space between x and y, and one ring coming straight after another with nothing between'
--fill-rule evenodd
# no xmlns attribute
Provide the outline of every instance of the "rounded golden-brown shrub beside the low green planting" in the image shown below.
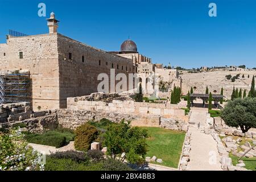
<svg viewBox="0 0 256 182"><path fill-rule="evenodd" d="M90 144L97 139L98 131L96 127L85 123L77 127L75 130L75 148L80 151L87 151L90 148Z"/></svg>

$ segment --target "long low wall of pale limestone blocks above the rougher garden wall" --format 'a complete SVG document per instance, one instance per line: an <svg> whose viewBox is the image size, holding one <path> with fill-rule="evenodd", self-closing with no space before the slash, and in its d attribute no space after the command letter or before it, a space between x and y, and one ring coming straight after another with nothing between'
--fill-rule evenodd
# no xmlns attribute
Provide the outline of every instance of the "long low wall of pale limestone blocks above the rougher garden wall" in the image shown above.
<svg viewBox="0 0 256 182"><path fill-rule="evenodd" d="M71 110L95 110L113 111L118 113L154 114L165 117L185 115L185 111L179 109L177 105L154 104L147 102L119 101L113 100L110 103L103 101L83 101L79 97L68 98L67 108Z"/></svg>

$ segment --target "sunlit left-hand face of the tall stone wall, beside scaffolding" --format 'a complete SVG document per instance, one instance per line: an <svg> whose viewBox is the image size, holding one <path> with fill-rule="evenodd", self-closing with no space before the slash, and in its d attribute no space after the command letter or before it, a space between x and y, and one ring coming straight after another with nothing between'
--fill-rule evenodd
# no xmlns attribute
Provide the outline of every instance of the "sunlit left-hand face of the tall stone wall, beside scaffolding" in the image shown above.
<svg viewBox="0 0 256 182"><path fill-rule="evenodd" d="M0 55L0 71L30 71L34 110L59 108L57 34L9 36L0 44Z"/></svg>

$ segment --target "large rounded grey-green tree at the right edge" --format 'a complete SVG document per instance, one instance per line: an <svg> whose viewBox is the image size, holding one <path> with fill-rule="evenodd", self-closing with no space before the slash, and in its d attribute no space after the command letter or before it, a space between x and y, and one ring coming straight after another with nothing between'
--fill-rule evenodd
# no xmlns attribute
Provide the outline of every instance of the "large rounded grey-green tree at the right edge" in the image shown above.
<svg viewBox="0 0 256 182"><path fill-rule="evenodd" d="M246 133L256 127L256 98L238 98L228 104L221 111L221 118L230 127L239 127Z"/></svg>

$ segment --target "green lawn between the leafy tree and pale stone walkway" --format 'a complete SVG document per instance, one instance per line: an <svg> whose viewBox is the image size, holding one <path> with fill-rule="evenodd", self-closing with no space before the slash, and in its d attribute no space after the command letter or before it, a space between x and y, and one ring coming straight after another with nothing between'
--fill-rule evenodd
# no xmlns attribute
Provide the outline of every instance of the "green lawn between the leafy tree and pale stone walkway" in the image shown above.
<svg viewBox="0 0 256 182"><path fill-rule="evenodd" d="M150 134L150 138L147 139L148 152L146 156L151 158L156 156L158 159L163 159L161 165L177 168L185 133L158 127L143 127L143 129L147 129Z"/></svg>

